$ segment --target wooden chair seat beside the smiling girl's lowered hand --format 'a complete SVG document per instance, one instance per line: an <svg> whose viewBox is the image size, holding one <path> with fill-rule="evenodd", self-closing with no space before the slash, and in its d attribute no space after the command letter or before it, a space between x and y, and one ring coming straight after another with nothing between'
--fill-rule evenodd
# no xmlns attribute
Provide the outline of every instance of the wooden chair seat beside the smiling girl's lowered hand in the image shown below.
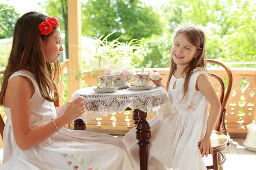
<svg viewBox="0 0 256 170"><path fill-rule="evenodd" d="M211 135L212 152L218 153L227 149L228 138L223 133L213 130Z"/></svg>

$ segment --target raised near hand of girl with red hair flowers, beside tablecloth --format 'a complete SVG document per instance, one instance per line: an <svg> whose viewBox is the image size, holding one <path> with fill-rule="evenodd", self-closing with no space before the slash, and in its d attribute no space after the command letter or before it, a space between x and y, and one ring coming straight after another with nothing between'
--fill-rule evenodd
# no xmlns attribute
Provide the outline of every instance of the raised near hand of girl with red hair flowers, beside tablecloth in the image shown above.
<svg viewBox="0 0 256 170"><path fill-rule="evenodd" d="M66 111L63 114L68 116L70 121L72 121L77 117L81 116L81 114L85 112L84 109L84 98L80 96L74 99L72 102L70 102L70 104L67 106Z"/></svg>

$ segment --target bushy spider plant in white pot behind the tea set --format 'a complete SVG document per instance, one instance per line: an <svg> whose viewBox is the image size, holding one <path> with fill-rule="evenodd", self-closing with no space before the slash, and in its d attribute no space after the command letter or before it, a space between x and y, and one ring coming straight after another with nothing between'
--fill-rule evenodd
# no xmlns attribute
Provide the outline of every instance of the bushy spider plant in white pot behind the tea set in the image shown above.
<svg viewBox="0 0 256 170"><path fill-rule="evenodd" d="M141 46L143 39L133 39L130 42L120 42L121 37L108 41L108 37L114 34L108 34L96 40L95 48L84 48L83 69L102 71L106 68L133 68L137 67L146 55ZM103 38L104 37L104 38Z"/></svg>

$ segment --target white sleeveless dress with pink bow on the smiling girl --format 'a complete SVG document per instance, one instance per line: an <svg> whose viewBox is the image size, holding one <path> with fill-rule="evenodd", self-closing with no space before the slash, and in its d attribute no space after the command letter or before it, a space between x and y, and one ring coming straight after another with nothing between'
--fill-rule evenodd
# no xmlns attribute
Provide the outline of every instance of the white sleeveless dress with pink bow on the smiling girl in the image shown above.
<svg viewBox="0 0 256 170"><path fill-rule="evenodd" d="M196 80L204 71L194 71L189 80L189 90L183 96L185 79L173 75L169 85L169 99L177 113L163 121L154 117L148 121L151 127L149 144L149 170L206 170L198 147L207 129L209 103L201 91L195 90ZM205 74L206 75L206 74ZM176 88L173 85L176 82ZM136 129L129 131L123 142L133 161L135 170L140 170L140 156Z"/></svg>

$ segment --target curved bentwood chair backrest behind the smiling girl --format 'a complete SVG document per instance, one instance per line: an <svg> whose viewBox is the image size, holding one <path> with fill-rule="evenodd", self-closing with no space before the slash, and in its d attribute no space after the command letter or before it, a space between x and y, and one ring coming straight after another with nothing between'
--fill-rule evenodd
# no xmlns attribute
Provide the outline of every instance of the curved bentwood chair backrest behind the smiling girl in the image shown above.
<svg viewBox="0 0 256 170"><path fill-rule="evenodd" d="M207 59L207 63L213 63L213 64L216 64L216 65L220 65L221 67L223 67L225 69L225 71L227 72L227 80L228 80L228 83L227 83L227 87L226 87L226 90L225 90L225 85L224 85L224 81L216 74L213 74L213 73L210 73L212 75L212 77L214 77L215 79L218 80L218 82L220 83L221 85L221 94L220 94L220 102L221 102L221 113L220 113L220 116L218 118L218 121L215 125L215 130L220 132L220 127L222 125L222 128L223 128L223 131L224 131L224 134L228 136L228 139L229 139L229 142L228 144L230 144L230 136L227 132L227 128L225 126L225 115L226 115L226 105L227 105L227 100L230 96L230 93L231 93L231 88L232 88L232 85L233 85L233 76L232 76L232 73L231 73L231 70L230 68L225 65L224 63L222 62L219 62L219 61L216 61L214 59Z"/></svg>

